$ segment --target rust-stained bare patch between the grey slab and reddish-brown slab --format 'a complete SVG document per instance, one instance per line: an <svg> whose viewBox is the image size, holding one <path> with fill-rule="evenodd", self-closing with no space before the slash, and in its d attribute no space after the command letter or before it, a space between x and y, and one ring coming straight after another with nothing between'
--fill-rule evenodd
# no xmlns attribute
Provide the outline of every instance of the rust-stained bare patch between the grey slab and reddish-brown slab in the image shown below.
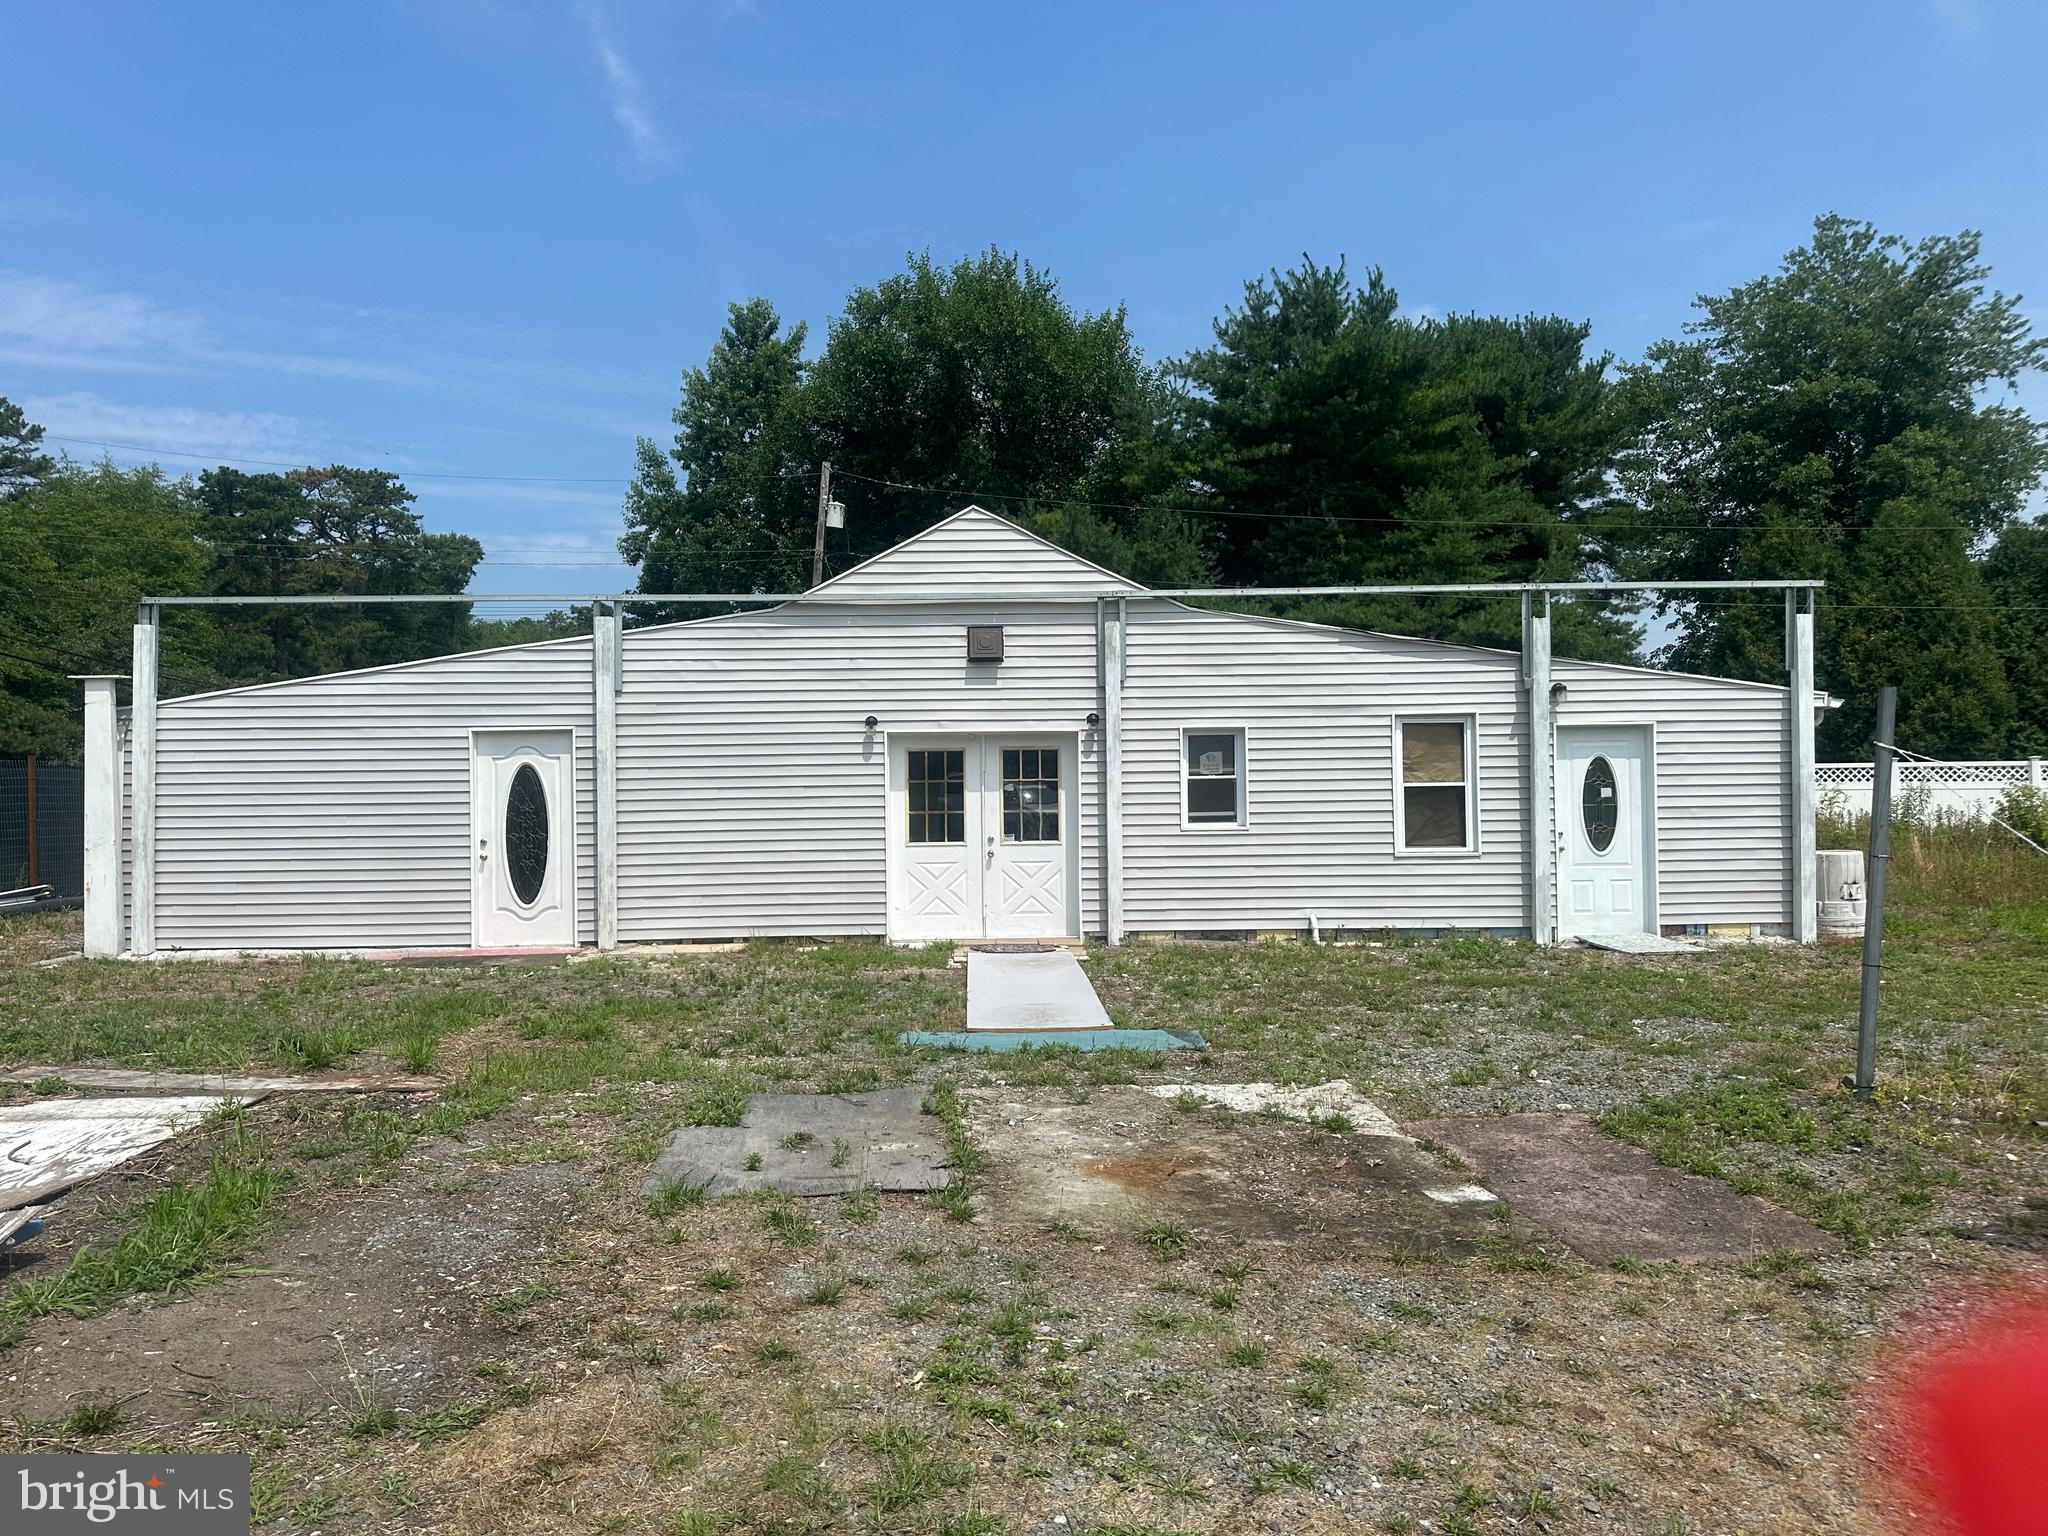
<svg viewBox="0 0 2048 1536"><path fill-rule="evenodd" d="M1051 1090L967 1098L997 1223L1126 1233L1176 1223L1380 1253L1468 1253L1491 1231L1487 1204L1430 1198L1460 1180L1405 1137L1188 1110L1143 1087L1096 1090L1081 1104Z"/></svg>

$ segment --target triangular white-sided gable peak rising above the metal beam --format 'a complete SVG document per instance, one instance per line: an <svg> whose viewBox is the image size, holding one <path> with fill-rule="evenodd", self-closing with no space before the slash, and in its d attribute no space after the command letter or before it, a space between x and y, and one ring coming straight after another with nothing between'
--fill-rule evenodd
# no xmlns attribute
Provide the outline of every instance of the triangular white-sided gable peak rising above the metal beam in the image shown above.
<svg viewBox="0 0 2048 1536"><path fill-rule="evenodd" d="M1137 592L1139 584L979 506L961 508L881 555L813 586L805 598L918 592Z"/></svg>

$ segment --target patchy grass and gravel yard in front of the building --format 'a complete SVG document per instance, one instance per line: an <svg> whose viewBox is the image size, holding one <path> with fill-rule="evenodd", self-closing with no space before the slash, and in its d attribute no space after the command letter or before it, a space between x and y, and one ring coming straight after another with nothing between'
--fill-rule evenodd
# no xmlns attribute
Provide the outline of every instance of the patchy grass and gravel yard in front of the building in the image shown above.
<svg viewBox="0 0 2048 1536"><path fill-rule="evenodd" d="M0 1444L250 1450L258 1522L324 1532L1878 1530L1884 1337L2048 1243L2048 872L1907 844L1894 897L1872 1104L1853 948L1096 950L1120 1024L1214 1049L956 1059L895 1047L963 1024L944 950L39 967L76 922L12 920L6 1065L449 1085L276 1096L59 1200L0 1268ZM1841 1251L1092 1233L987 1169L639 1194L754 1090L1331 1077L1397 1118L1589 1112Z"/></svg>

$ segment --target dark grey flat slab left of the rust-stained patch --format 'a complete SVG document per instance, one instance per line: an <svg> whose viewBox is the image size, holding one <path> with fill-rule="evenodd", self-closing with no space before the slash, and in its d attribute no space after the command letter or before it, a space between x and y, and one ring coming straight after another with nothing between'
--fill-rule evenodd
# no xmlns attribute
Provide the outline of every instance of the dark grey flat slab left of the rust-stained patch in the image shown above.
<svg viewBox="0 0 2048 1536"><path fill-rule="evenodd" d="M760 1159L758 1167L748 1167ZM641 1184L702 1186L707 1194L786 1190L821 1196L942 1190L952 1184L944 1128L918 1087L879 1094L756 1094L737 1126L682 1126Z"/></svg>

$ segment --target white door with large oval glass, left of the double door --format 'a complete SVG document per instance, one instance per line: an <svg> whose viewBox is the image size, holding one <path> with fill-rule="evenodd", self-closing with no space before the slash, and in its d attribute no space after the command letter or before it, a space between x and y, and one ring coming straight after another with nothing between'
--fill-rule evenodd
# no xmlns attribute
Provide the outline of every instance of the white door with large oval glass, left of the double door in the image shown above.
<svg viewBox="0 0 2048 1536"><path fill-rule="evenodd" d="M469 909L477 948L575 944L573 786L569 731L471 733Z"/></svg>

